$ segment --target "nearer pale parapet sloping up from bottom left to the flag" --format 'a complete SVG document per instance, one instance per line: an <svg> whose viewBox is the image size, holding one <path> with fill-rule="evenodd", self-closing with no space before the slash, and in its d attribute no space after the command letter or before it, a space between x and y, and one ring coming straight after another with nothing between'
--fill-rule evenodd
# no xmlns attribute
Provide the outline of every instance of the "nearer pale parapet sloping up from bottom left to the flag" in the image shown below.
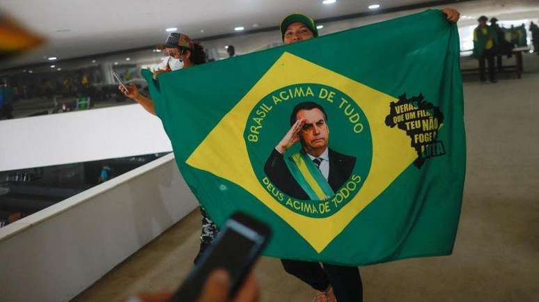
<svg viewBox="0 0 539 302"><path fill-rule="evenodd" d="M0 301L69 301L192 212L173 154L0 229Z"/></svg>

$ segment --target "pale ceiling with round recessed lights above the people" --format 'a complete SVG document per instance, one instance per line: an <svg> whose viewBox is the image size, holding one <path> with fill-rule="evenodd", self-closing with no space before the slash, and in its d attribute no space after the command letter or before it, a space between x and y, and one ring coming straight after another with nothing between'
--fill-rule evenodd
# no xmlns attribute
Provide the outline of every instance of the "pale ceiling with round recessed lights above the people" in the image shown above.
<svg viewBox="0 0 539 302"><path fill-rule="evenodd" d="M162 42L167 35L164 29L169 27L200 39L235 33L236 26L244 26L245 31L272 28L284 16L298 11L314 19L327 19L368 12L368 6L373 3L387 9L433 2L338 0L324 5L322 0L1 0L0 11L43 35L47 42L28 54L2 62L0 70L47 63L49 56L65 60L148 47ZM462 1L450 6L459 8L463 15L472 8L497 9L498 13L515 7L529 11L539 3L538 0L459 2Z"/></svg>

